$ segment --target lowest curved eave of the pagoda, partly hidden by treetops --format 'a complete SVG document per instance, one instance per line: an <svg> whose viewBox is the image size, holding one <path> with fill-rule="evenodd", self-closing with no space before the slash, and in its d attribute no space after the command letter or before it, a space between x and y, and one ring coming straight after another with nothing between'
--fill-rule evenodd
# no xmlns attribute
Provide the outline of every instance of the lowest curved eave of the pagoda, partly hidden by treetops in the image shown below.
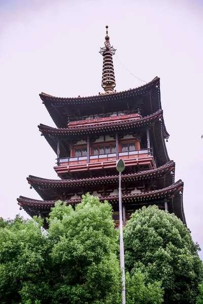
<svg viewBox="0 0 203 304"><path fill-rule="evenodd" d="M149 191L146 193L137 193L137 194L122 194L122 201L124 203L130 203L136 200L136 203L147 201L148 203L154 200L159 200L163 198L168 198L173 200L172 206L170 205L170 211L174 212L185 224L185 215L183 210L183 201L182 201L182 192L183 192L183 182L182 180L177 181L176 183L159 190ZM178 198L180 196L180 198ZM100 201L109 201L112 204L118 202L118 195L99 197ZM18 204L26 210L26 212L33 216L38 215L40 212L48 213L51 208L54 207L56 201L40 201L32 200L26 197L20 196L18 199ZM67 204L78 204L81 202L81 199L72 199L65 201ZM42 211L41 211L42 210Z"/></svg>

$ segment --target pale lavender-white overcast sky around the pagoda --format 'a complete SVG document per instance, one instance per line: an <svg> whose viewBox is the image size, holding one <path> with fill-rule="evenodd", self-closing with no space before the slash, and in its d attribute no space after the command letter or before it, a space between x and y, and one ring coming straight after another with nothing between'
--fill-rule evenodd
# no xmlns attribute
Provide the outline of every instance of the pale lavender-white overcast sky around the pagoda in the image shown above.
<svg viewBox="0 0 203 304"><path fill-rule="evenodd" d="M187 225L203 249L202 0L0 0L0 216L27 217L20 195L40 199L29 189L29 174L57 178L56 155L37 127L54 127L39 93L102 92L98 51L106 24L117 49L117 91L144 84L123 65L146 82L160 77L167 150L176 180L184 181Z"/></svg>

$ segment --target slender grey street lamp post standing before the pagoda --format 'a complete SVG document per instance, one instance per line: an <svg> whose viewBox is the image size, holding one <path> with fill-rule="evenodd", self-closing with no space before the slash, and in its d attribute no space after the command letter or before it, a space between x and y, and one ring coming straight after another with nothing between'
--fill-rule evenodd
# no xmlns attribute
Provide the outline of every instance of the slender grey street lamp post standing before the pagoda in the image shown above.
<svg viewBox="0 0 203 304"><path fill-rule="evenodd" d="M121 200L121 172L125 169L125 163L122 159L117 162L116 170L119 172L119 225L120 225L120 268L122 272L122 304L125 304L125 263L123 246L123 225L122 225L122 200Z"/></svg>

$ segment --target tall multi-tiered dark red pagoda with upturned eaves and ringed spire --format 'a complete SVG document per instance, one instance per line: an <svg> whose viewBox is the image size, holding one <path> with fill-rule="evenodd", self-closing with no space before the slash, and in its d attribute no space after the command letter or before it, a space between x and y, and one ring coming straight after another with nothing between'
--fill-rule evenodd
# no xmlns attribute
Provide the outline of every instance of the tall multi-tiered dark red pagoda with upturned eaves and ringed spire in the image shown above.
<svg viewBox="0 0 203 304"><path fill-rule="evenodd" d="M115 49L105 37L101 86L96 96L61 98L40 94L56 127L40 124L39 130L55 151L54 166L60 179L29 175L27 181L42 200L20 196L20 209L30 216L49 216L61 200L75 206L89 192L107 200L119 225L118 172L116 163L125 162L122 174L123 224L142 206L156 204L175 213L186 224L183 210L183 182L175 182L175 163L170 161L160 100L160 79L127 91L116 92L113 55ZM46 221L45 221L46 222Z"/></svg>

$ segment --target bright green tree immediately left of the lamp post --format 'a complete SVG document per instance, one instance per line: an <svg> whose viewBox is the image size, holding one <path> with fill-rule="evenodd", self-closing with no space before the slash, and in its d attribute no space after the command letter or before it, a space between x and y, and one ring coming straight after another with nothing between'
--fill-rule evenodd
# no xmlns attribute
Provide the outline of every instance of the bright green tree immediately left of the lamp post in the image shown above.
<svg viewBox="0 0 203 304"><path fill-rule="evenodd" d="M120 304L118 232L112 206L87 194L75 210L56 204L49 225L54 244L50 257L63 281L56 286L54 300Z"/></svg>

